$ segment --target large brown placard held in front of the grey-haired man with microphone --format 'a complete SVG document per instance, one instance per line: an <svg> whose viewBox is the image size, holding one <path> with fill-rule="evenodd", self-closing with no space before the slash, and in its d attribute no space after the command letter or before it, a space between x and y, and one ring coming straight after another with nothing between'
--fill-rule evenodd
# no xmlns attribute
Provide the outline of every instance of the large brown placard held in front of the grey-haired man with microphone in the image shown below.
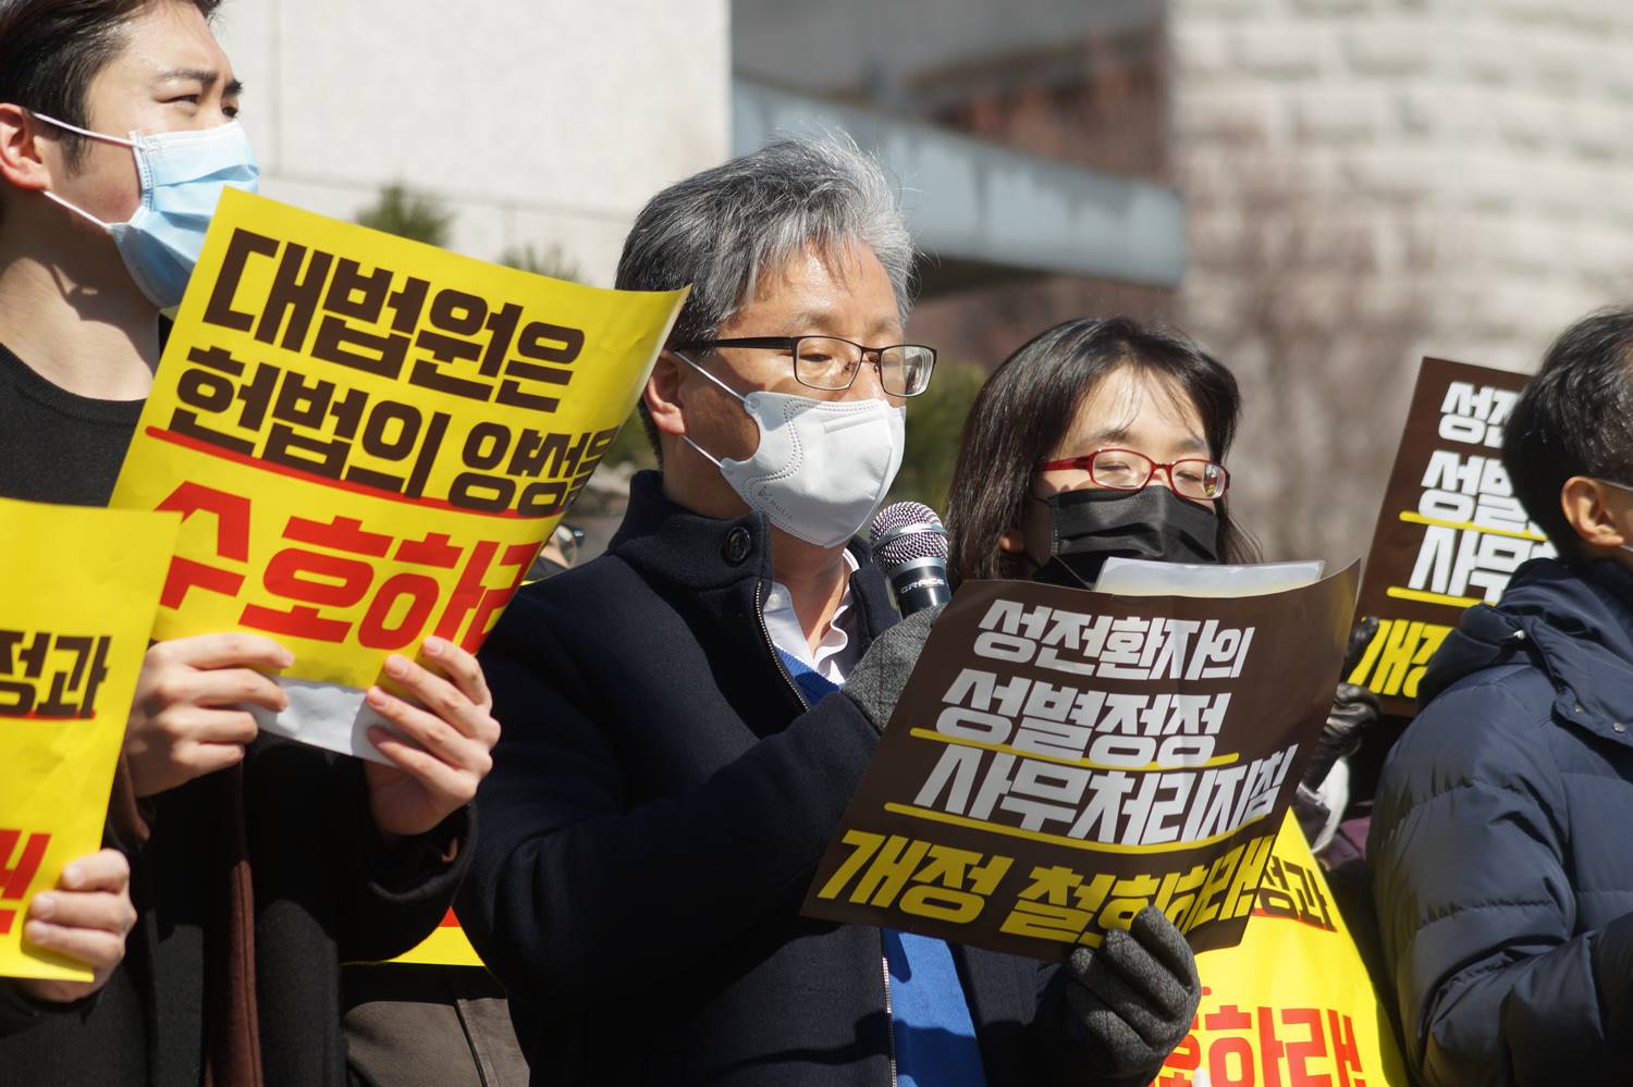
<svg viewBox="0 0 1633 1087"><path fill-rule="evenodd" d="M1156 904L1197 950L1235 945L1355 581L1241 599L965 583L805 912L1058 960Z"/></svg>

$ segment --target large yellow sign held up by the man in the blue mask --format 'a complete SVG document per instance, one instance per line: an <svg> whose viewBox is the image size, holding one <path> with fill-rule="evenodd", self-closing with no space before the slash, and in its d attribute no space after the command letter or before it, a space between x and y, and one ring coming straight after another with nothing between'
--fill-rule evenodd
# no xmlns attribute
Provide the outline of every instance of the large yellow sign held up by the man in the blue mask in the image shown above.
<svg viewBox="0 0 1633 1087"><path fill-rule="evenodd" d="M155 637L278 640L263 728L371 754L361 690L433 633L482 643L683 299L229 189L113 496L185 519Z"/></svg>

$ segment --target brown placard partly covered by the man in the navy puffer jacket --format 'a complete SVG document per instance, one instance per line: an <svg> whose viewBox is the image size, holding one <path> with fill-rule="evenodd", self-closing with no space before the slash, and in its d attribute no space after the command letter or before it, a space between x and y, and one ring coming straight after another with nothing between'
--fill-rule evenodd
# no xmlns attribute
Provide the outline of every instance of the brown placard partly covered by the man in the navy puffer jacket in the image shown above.
<svg viewBox="0 0 1633 1087"><path fill-rule="evenodd" d="M1417 712L1429 658L1463 609L1494 604L1509 576L1553 545L1514 498L1502 426L1525 374L1424 359L1360 586L1360 615L1378 619L1352 684L1386 713Z"/></svg>

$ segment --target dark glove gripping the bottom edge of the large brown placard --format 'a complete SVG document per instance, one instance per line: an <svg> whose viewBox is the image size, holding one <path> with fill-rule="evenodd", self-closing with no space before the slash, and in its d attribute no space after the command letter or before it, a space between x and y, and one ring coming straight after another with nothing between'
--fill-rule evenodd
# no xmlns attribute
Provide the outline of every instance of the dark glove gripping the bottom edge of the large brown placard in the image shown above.
<svg viewBox="0 0 1633 1087"><path fill-rule="evenodd" d="M1190 1033L1202 979L1190 945L1156 906L1066 960L1066 1004L1089 1043L1089 1071L1146 1084Z"/></svg>

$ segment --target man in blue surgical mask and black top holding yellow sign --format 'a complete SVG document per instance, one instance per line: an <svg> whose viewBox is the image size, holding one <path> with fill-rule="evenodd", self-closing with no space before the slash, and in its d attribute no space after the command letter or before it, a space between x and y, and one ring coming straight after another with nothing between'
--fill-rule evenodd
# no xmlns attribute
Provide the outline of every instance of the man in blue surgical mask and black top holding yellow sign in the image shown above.
<svg viewBox="0 0 1633 1087"><path fill-rule="evenodd" d="M255 188L216 7L0 0L0 496L108 501L160 312L181 300L220 194ZM0 979L0 1080L346 1082L340 961L392 958L436 929L498 738L475 658L434 640L426 653L389 668L436 717L371 700L441 739L361 767L258 736L248 707L287 705L268 676L292 659L276 641L149 648L108 818L119 852L83 859L24 922L96 981Z"/></svg>

